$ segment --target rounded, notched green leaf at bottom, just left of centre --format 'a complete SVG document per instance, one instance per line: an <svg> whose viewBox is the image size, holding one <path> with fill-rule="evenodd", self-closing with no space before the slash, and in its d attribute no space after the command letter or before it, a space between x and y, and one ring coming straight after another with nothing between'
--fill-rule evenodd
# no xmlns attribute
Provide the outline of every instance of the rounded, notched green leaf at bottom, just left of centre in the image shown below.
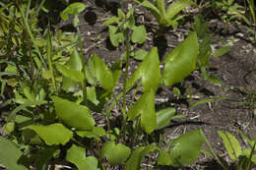
<svg viewBox="0 0 256 170"><path fill-rule="evenodd" d="M131 149L122 143L104 142L100 150L101 157L106 157L110 165L122 164L131 153Z"/></svg>

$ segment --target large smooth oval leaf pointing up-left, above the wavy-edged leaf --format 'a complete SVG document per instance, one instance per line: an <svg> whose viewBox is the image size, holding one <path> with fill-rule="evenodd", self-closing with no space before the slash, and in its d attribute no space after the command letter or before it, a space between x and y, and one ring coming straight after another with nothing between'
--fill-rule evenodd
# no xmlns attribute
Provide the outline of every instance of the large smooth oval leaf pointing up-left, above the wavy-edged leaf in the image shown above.
<svg viewBox="0 0 256 170"><path fill-rule="evenodd" d="M88 107L79 105L58 96L51 97L57 116L67 125L76 130L93 130L95 119Z"/></svg>

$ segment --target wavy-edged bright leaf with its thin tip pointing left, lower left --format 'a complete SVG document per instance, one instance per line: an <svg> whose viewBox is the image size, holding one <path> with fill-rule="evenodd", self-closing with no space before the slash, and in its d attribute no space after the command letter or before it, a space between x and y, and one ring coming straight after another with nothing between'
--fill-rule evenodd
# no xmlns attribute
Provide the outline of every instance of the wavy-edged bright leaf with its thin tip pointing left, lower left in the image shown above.
<svg viewBox="0 0 256 170"><path fill-rule="evenodd" d="M34 131L48 145L65 144L73 137L73 133L62 124L51 124L48 126L31 125L23 128Z"/></svg>

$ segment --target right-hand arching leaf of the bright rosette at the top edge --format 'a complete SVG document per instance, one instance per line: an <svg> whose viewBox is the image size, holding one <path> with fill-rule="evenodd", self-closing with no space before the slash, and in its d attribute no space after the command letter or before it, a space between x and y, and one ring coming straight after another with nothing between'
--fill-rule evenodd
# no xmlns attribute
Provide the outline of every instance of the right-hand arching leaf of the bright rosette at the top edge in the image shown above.
<svg viewBox="0 0 256 170"><path fill-rule="evenodd" d="M172 3L166 11L166 20L171 21L180 11L190 5L196 5L190 0L179 0Z"/></svg>

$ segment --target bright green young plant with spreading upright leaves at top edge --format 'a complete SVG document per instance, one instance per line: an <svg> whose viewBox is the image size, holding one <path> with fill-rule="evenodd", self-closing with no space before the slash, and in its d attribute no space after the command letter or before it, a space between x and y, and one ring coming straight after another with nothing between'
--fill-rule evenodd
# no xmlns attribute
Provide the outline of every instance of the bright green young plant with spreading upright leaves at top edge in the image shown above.
<svg viewBox="0 0 256 170"><path fill-rule="evenodd" d="M184 16L177 16L177 14L190 5L197 6L190 0L179 0L173 2L167 9L165 8L164 0L156 0L157 6L149 2L148 0L135 0L137 3L148 8L152 15L156 18L160 27L172 27L176 29L178 27L178 21Z"/></svg>

